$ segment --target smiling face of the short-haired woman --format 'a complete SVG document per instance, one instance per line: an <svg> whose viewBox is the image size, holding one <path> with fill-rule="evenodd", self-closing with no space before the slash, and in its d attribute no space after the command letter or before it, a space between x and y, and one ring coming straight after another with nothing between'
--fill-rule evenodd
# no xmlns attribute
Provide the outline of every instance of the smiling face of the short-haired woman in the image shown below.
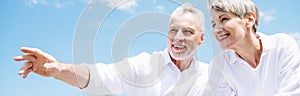
<svg viewBox="0 0 300 96"><path fill-rule="evenodd" d="M240 45L245 38L247 28L246 19L243 19L235 14L211 11L213 34L220 44L220 47L225 49L235 49L235 46Z"/></svg>

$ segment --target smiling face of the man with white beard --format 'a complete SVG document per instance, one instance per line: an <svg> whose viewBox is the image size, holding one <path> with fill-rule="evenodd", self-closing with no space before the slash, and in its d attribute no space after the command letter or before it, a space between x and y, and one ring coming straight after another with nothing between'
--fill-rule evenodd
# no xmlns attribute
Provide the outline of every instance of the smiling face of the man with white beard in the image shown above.
<svg viewBox="0 0 300 96"><path fill-rule="evenodd" d="M202 27L202 26L201 26ZM171 17L168 32L168 51L175 60L192 58L197 47L204 41L200 24L191 13Z"/></svg>

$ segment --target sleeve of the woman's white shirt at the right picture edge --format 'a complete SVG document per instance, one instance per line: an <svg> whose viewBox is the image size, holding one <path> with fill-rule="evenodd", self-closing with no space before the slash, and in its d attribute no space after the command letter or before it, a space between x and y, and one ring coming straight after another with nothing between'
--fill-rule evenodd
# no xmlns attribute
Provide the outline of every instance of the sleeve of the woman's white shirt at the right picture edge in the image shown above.
<svg viewBox="0 0 300 96"><path fill-rule="evenodd" d="M274 96L300 95L300 51L296 41L282 34L277 46L279 47L279 88Z"/></svg>

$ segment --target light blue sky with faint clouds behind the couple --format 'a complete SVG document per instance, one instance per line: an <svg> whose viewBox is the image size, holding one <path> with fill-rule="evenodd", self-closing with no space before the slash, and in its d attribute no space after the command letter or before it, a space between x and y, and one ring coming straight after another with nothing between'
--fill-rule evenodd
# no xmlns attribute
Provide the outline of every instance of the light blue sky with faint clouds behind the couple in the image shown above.
<svg viewBox="0 0 300 96"><path fill-rule="evenodd" d="M22 46L39 48L61 62L83 63L84 60L75 60L80 56L74 54L74 44L87 43L92 40L93 62L110 63L113 61L112 49L118 44L118 37L128 22L141 17L146 13L155 13L169 16L179 6L172 0L129 0L119 8L105 12L103 8L116 7L120 0L1 0L0 1L0 76L2 85L1 96L82 96L80 90L71 87L53 78L45 78L30 74L23 79L17 75L23 62L14 62L13 57L22 55L19 48ZM121 0L122 1L122 0ZM184 2L185 0L179 0ZM209 63L218 48L211 37L209 12L206 9L206 0L188 0L194 6L203 10L206 19L205 44L198 49L198 57L203 62ZM287 33L294 37L300 45L300 1L295 0L255 0L261 10L261 25L259 32L265 34ZM101 8L90 6L99 4ZM90 10L93 10L89 12ZM109 15L105 15L109 14ZM104 21L93 16L105 16ZM147 15L147 14L146 14ZM89 20L82 23L80 21ZM96 20L93 20L96 18ZM143 17L145 22L161 18ZM162 24L168 23L163 22ZM101 23L101 25L99 25ZM137 25L131 24L133 28ZM166 25L164 25L166 26ZM143 26L142 26L143 27ZM82 29L80 29L82 28ZM90 31L96 29L96 34ZM126 29L126 28L125 28ZM98 30L98 31L97 31ZM166 28L162 28L166 30ZM86 32L85 32L86 31ZM126 32L127 30L125 30ZM130 30L129 30L130 31ZM161 51L166 48L167 38L157 30L146 30L137 35L130 42L126 56L135 56L141 52ZM131 33L128 33L129 35ZM90 38L77 38L79 37ZM129 36L126 35L126 36ZM126 37L124 36L124 37ZM78 42L74 42L74 41ZM116 42L116 43L115 43ZM122 41L121 41L122 42ZM113 47L112 47L113 46ZM214 46L214 47L212 47ZM122 48L122 47L121 47ZM124 50L117 48L118 50ZM81 49L77 53L88 53L88 49ZM121 56L122 57L122 56ZM89 62L89 61L86 61Z"/></svg>

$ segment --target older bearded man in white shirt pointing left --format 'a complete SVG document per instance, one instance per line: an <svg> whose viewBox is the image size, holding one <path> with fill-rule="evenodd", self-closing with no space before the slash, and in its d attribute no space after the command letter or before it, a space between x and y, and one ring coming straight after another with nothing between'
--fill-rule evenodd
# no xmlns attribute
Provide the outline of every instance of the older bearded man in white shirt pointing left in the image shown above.
<svg viewBox="0 0 300 96"><path fill-rule="evenodd" d="M200 95L207 81L208 64L195 60L204 43L204 16L190 4L171 15L168 48L153 54L141 53L113 64L66 64L36 48L22 47L26 62L19 75L30 72L54 77L92 94L128 96Z"/></svg>

